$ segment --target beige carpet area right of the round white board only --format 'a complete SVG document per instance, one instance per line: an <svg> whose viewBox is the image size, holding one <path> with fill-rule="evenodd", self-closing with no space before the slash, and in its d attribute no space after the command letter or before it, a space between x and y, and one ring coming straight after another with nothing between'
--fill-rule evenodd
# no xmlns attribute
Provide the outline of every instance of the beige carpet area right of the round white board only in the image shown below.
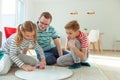
<svg viewBox="0 0 120 80"><path fill-rule="evenodd" d="M65 80L108 80L98 66L91 63L91 67L82 67L81 69L73 70L73 75Z"/></svg>

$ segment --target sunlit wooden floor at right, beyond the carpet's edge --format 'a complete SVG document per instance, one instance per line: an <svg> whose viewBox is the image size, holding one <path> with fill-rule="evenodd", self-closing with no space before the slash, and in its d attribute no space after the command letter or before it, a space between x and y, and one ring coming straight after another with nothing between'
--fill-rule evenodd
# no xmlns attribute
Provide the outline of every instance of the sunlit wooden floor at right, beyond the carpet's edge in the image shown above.
<svg viewBox="0 0 120 80"><path fill-rule="evenodd" d="M91 56L109 80L120 80L120 51L92 52Z"/></svg>

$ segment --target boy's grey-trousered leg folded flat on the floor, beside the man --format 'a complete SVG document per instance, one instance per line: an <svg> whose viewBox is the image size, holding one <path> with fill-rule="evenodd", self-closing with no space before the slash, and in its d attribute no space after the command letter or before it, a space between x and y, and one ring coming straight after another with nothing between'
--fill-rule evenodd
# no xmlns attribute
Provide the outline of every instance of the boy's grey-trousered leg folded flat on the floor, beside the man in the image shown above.
<svg viewBox="0 0 120 80"><path fill-rule="evenodd" d="M68 66L74 63L72 55L70 53L57 58L57 64L60 66Z"/></svg>

